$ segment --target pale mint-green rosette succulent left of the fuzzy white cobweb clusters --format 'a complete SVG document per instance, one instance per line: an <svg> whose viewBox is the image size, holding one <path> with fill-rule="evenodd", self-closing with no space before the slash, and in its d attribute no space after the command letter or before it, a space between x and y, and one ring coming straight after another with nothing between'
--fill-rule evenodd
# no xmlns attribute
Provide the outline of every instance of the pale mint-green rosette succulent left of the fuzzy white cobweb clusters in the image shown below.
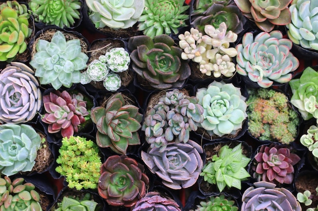
<svg viewBox="0 0 318 211"><path fill-rule="evenodd" d="M81 52L79 39L66 40L62 32L56 31L51 42L39 39L36 53L30 65L36 69L42 85L51 83L55 90L61 86L70 88L81 81L80 70L86 68L88 56Z"/></svg>

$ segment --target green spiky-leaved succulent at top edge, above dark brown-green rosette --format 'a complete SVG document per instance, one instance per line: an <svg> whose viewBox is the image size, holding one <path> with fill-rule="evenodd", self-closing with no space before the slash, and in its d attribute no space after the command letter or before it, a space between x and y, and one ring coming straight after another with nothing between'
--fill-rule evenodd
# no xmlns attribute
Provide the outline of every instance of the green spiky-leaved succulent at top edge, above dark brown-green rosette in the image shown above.
<svg viewBox="0 0 318 211"><path fill-rule="evenodd" d="M150 38L161 34L177 34L179 27L186 26L189 15L185 12L188 8L183 0L145 0L145 9L138 19L138 30Z"/></svg>

